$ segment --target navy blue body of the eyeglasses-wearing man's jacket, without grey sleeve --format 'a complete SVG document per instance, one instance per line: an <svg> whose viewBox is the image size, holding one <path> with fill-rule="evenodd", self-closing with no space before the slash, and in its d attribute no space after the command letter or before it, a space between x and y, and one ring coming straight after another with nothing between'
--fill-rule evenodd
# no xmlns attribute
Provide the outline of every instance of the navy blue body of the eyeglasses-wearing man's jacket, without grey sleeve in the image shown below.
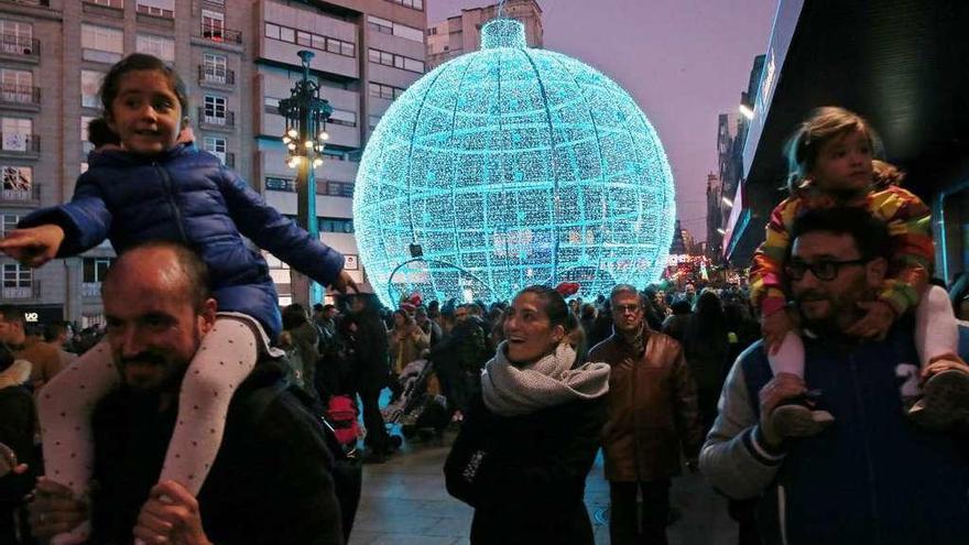
<svg viewBox="0 0 969 545"><path fill-rule="evenodd" d="M903 414L901 385L918 372L913 327L902 320L885 341L856 347L805 337L805 382L836 421L790 445L759 505L765 544L969 543L965 439ZM772 377L761 345L738 364L756 410Z"/></svg>

